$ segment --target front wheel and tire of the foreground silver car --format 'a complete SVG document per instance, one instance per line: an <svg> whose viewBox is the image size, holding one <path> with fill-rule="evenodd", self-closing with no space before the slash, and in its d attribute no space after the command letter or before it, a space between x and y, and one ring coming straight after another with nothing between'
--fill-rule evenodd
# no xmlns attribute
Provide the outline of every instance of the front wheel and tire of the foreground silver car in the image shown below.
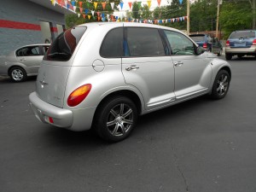
<svg viewBox="0 0 256 192"><path fill-rule="evenodd" d="M230 74L226 70L218 72L212 85L212 98L222 99L227 95L230 88Z"/></svg>

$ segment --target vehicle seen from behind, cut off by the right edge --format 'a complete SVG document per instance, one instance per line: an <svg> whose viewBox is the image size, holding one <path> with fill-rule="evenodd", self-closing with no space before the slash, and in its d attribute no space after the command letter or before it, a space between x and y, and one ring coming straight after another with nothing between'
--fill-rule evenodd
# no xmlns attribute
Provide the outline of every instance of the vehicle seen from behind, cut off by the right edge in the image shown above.
<svg viewBox="0 0 256 192"><path fill-rule="evenodd" d="M231 60L232 56L241 58L244 55L256 57L256 30L236 31L230 34L226 42L226 60Z"/></svg>

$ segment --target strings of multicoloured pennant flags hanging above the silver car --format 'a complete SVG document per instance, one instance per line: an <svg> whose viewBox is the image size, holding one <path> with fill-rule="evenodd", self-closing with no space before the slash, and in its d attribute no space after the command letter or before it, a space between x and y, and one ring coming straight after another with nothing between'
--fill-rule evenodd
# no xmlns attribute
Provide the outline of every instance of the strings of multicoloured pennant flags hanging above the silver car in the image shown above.
<svg viewBox="0 0 256 192"><path fill-rule="evenodd" d="M123 15L121 16L114 16L114 15L109 15L106 14L107 11L105 11L106 9L106 5L108 4L108 2L92 2L91 0L88 0L86 3L93 3L93 8L94 10L90 10L90 9L84 9L83 8L83 4L84 2L78 1L78 0L50 0L51 3L55 6L55 4L58 4L59 6L61 6L61 8L66 8L66 9L70 9L71 11L77 13L78 17L80 17L81 15L84 17L84 19L86 19L86 17L90 20L91 18L93 18L94 20L98 20L98 21L108 21L108 22L114 22L114 21L119 21L119 20L123 20L125 19L125 21L129 21L129 22L140 22L140 23L151 23L151 24L164 24L164 23L174 23L174 22L181 22L181 21L185 21L188 19L187 16L181 16L181 17L177 17L177 18L172 18L172 19L165 19L165 20L144 20L144 19L131 19L131 18L124 18ZM137 2L138 3L138 7L141 7L141 2ZM145 1L144 1L145 2ZM151 7L151 0L150 1L146 1L148 3L148 8ZM180 3L182 3L182 0L179 0ZM161 0L157 0L158 5L160 6ZM102 9L103 11L96 11L96 9L98 8L99 5L102 5ZM114 3L109 3L111 8L114 10ZM88 5L88 4L87 4ZM132 8L132 3L128 2L129 8ZM120 9L123 9L124 3L120 2L119 3ZM79 12L77 12L76 10L79 9ZM96 14L96 16L95 16Z"/></svg>

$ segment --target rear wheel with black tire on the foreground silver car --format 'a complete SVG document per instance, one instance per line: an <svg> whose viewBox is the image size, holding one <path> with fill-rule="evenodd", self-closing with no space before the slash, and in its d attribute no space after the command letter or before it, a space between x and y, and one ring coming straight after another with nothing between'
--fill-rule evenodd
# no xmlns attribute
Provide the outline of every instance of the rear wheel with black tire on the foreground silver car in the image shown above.
<svg viewBox="0 0 256 192"><path fill-rule="evenodd" d="M137 107L125 96L115 96L103 102L96 111L97 134L109 142L128 137L137 124Z"/></svg>

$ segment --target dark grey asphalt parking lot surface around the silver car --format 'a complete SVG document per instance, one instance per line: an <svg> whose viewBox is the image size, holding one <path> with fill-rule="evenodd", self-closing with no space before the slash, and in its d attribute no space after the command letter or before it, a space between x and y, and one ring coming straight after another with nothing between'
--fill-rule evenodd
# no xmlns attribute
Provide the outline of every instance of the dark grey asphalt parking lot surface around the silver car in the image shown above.
<svg viewBox="0 0 256 192"><path fill-rule="evenodd" d="M28 106L36 78L0 77L0 191L255 192L256 60L230 65L223 100L148 113L114 144L38 122Z"/></svg>

